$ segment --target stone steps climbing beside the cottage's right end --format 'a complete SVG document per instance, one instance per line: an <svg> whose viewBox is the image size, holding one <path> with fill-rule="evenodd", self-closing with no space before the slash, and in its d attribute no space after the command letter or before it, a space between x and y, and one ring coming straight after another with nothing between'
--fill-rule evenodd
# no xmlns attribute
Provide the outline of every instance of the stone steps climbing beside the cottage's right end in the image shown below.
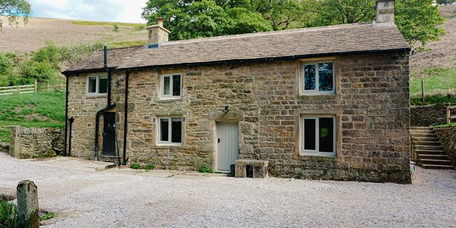
<svg viewBox="0 0 456 228"><path fill-rule="evenodd" d="M420 166L425 169L452 169L451 161L445 154L440 138L429 127L412 127L410 135L418 154Z"/></svg>

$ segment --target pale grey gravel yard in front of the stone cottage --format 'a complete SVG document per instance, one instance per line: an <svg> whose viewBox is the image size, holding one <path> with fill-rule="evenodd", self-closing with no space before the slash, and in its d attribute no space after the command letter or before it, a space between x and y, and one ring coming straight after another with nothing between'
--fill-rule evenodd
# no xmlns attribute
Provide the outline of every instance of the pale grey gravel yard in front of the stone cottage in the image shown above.
<svg viewBox="0 0 456 228"><path fill-rule="evenodd" d="M45 227L456 227L455 171L415 176L397 185L95 172L0 153L0 187L33 180L41 207L71 212Z"/></svg>

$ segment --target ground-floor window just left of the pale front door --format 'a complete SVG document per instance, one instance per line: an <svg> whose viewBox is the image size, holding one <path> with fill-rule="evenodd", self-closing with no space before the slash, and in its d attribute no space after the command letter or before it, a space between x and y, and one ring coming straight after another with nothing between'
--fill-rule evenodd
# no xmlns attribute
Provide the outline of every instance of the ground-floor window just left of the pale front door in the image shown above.
<svg viewBox="0 0 456 228"><path fill-rule="evenodd" d="M158 118L158 144L182 145L182 118Z"/></svg>

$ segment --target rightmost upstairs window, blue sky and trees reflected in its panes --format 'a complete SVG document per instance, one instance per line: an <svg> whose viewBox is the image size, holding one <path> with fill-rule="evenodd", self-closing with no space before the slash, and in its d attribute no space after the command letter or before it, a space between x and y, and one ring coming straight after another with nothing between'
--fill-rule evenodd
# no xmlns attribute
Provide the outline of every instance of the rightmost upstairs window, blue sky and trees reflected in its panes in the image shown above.
<svg viewBox="0 0 456 228"><path fill-rule="evenodd" d="M333 62L304 63L302 65L302 93L333 94L336 92L334 82Z"/></svg>

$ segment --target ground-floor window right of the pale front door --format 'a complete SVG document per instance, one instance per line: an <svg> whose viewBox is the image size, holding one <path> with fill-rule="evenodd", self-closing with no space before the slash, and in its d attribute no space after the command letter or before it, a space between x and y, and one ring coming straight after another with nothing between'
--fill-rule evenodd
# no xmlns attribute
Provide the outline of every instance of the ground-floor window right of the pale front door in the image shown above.
<svg viewBox="0 0 456 228"><path fill-rule="evenodd" d="M301 118L301 155L336 155L336 120L334 117Z"/></svg>

